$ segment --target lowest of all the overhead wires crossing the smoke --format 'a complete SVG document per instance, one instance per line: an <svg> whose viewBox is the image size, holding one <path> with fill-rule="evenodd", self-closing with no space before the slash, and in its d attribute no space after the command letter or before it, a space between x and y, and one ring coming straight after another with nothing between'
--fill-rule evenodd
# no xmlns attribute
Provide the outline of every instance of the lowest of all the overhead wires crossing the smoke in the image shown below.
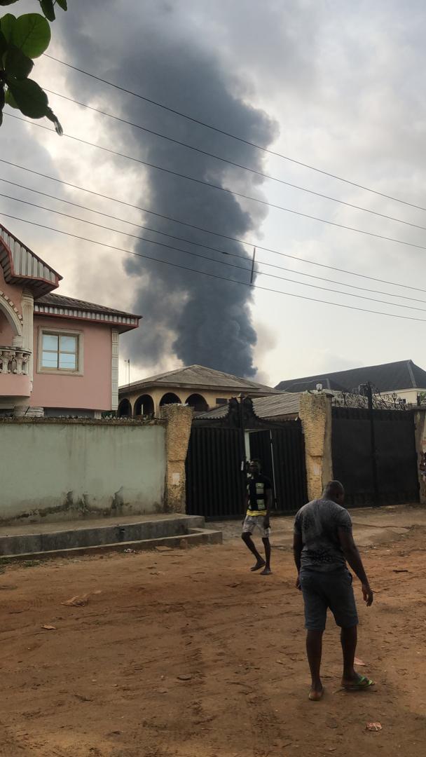
<svg viewBox="0 0 426 757"><path fill-rule="evenodd" d="M269 287L260 286L258 284L250 284L248 282L241 282L238 281L238 279L228 279L226 276L219 276L216 273L208 273L207 271L200 271L196 268L191 268L189 266L182 266L180 263L172 263L170 260L161 260L158 257L151 257L151 255L145 255L140 252L133 252L132 250L125 250L124 248L117 247L116 245L107 245L106 242L98 241L96 239L89 239L87 237L79 236L77 234L72 234L71 232L65 232L62 229L55 229L54 226L46 226L43 223L36 223L36 221L30 221L26 218L20 218L19 216L13 216L11 213L3 213L0 211L3 216L6 218L11 218L16 221L22 221L23 223L29 223L31 226L38 226L39 229L48 229L52 232L58 232L58 234L63 234L68 237L73 237L74 239L79 239L80 241L88 241L91 245L99 245L101 247L108 248L110 250L117 250L119 252L124 252L129 255L134 255L135 257L142 257L144 260L151 260L154 261L154 263L162 263L166 266L173 266L173 268L179 268L185 271L188 271L189 273L198 273L201 276L209 276L210 279L219 279L219 281L223 282L229 282L231 284L238 284L240 286L247 286L251 289L259 289L260 291L269 291L274 292L275 294L284 294L285 297L294 297L300 300L307 300L309 302L320 302L322 304L326 305L333 305L334 307L344 307L345 310L357 310L360 313L372 313L376 316L387 316L388 318L400 318L403 320L408 321L418 321L421 323L426 323L426 319L424 318L416 318L415 316L402 316L398 313L384 313L382 310L368 310L365 307L356 307L355 305L345 305L339 302L330 302L329 300L320 300L319 298L313 298L313 297L306 297L304 294L294 294L294 292L290 291L282 291L281 289L271 289ZM216 260L214 261L217 262Z"/></svg>

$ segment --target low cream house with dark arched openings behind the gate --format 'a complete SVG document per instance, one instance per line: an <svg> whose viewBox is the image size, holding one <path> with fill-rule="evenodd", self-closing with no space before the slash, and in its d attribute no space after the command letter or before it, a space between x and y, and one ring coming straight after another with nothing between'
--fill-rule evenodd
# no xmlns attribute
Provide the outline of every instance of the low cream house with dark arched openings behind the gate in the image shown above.
<svg viewBox="0 0 426 757"><path fill-rule="evenodd" d="M215 371L204 366L186 366L158 373L141 381L120 387L120 416L154 416L162 405L181 403L203 413L227 404L231 397L266 397L279 394L276 389L257 384L249 378Z"/></svg>

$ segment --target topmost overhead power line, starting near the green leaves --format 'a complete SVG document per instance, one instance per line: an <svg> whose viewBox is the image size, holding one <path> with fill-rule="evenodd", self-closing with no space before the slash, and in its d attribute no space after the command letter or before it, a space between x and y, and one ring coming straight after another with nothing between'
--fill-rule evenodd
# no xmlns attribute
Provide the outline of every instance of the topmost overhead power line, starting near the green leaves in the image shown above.
<svg viewBox="0 0 426 757"><path fill-rule="evenodd" d="M169 113L173 113L176 116L185 118L186 120L191 121L192 123L197 123L198 126L204 126L206 129L211 129L213 132L217 132L219 134L223 134L224 136L231 137L231 139L236 139L238 140L238 142L243 142L244 145L249 145L250 147L256 148L257 150L260 150L269 155L274 155L275 157L281 157L283 160L288 160L290 163L294 163L297 166L308 168L311 171L316 171L316 173L321 173L323 176L329 176L331 179L337 179L337 181L339 182L344 182L345 184L349 184L350 186L356 187L358 189L362 189L365 192L371 192L372 195L378 195L379 197L384 197L387 200L400 202L401 204L407 205L408 207L415 207L417 208L417 210L426 210L426 207L417 205L407 200L403 200L403 198L394 197L393 195L387 195L384 192L378 192L377 189L366 187L357 182L350 181L350 179L344 179L343 176L337 176L337 174L331 173L330 171L325 171L325 170L322 170L321 168L317 168L316 166L303 163L302 160L296 160L294 157L289 157L288 155L284 155L281 152L277 152L275 150L271 150L270 148L263 147L263 145L257 145L256 142L250 142L249 139L244 139L243 137L240 137L236 134L232 134L232 132L225 131L225 129L219 129L218 126L213 126L213 124L211 123L207 123L206 121L202 121L200 119L189 116L188 114L182 113L182 111L177 111L173 107L169 107L163 103L153 100L152 98L145 97L145 95L141 95L138 92L132 92L131 89L126 89L126 87L120 86L118 84L114 84L113 82L108 81L108 79L103 79L101 76L96 76L95 73L90 73L89 71L86 71L77 66L73 66L70 63L67 63L66 61L61 61L60 58L55 58L54 55L48 55L48 53L45 53L45 57L50 58L51 61L56 61L56 63L60 63L63 66L67 66L67 68L71 68L74 71L78 71L79 73L84 73L85 76L90 76L92 79L96 79L96 81L98 82L107 84L111 87L114 87L115 89L120 89L121 92L126 92L127 95L132 95L133 97L136 97L140 100L144 100L145 102L151 103L151 105L156 105L157 107L162 108L164 111L169 111Z"/></svg>

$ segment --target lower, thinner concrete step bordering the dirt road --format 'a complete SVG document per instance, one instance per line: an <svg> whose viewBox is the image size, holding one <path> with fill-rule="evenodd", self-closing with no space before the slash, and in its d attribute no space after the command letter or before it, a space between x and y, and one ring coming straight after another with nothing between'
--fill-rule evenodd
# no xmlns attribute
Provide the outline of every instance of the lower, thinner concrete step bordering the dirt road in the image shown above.
<svg viewBox="0 0 426 757"><path fill-rule="evenodd" d="M185 543L185 544L182 544ZM199 547L201 544L222 544L222 531L212 531L210 528L191 528L187 534L164 536L157 539L141 539L138 541L117 541L112 544L97 544L90 547L67 547L65 549L44 550L42 552L14 553L0 556L2 560L46 559L49 557L78 557L95 555L103 552L124 552L130 550L154 550L155 547Z"/></svg>

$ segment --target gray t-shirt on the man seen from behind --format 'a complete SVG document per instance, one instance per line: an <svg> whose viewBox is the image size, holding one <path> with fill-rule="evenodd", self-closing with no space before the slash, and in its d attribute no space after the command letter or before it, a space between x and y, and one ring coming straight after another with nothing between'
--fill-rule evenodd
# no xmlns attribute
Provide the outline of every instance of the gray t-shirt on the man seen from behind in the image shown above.
<svg viewBox="0 0 426 757"><path fill-rule="evenodd" d="M328 572L344 568L338 528L352 531L352 521L347 509L332 500L313 500L300 508L294 533L302 537L302 569Z"/></svg>

